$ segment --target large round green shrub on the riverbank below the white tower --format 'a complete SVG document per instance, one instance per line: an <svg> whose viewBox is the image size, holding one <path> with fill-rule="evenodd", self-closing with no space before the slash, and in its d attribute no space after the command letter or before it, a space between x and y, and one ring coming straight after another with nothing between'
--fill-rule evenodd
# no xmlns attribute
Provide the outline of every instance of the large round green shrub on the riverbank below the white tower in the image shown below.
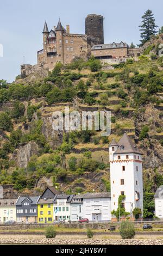
<svg viewBox="0 0 163 256"><path fill-rule="evenodd" d="M131 239L135 236L134 224L129 221L123 221L120 226L120 235L123 239Z"/></svg>

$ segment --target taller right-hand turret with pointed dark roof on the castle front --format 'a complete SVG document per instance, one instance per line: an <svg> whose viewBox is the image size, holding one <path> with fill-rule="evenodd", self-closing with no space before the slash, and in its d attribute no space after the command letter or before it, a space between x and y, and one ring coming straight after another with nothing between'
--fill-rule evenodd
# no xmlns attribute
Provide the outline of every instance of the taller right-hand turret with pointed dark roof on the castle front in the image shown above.
<svg viewBox="0 0 163 256"><path fill-rule="evenodd" d="M56 32L56 47L57 47L57 61L64 64L64 28L61 25L60 19L58 21Z"/></svg>

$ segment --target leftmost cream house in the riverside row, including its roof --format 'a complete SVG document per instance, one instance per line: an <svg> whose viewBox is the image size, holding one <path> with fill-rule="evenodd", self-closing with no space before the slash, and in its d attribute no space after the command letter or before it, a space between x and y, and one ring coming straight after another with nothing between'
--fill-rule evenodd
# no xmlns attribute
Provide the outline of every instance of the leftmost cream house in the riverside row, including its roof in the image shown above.
<svg viewBox="0 0 163 256"><path fill-rule="evenodd" d="M0 199L0 223L16 221L17 199Z"/></svg>

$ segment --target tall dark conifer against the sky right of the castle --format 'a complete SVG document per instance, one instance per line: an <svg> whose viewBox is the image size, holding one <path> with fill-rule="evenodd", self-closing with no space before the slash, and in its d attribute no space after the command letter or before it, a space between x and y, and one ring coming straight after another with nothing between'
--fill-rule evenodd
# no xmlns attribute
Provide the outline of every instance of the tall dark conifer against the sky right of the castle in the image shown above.
<svg viewBox="0 0 163 256"><path fill-rule="evenodd" d="M150 39L151 35L155 35L156 33L158 33L158 31L156 31L156 28L158 26L155 25L155 19L154 19L154 15L152 13L152 10L147 10L143 15L142 15L142 25L139 26L140 27L140 31L141 34L141 45L143 45L146 41L148 41Z"/></svg>

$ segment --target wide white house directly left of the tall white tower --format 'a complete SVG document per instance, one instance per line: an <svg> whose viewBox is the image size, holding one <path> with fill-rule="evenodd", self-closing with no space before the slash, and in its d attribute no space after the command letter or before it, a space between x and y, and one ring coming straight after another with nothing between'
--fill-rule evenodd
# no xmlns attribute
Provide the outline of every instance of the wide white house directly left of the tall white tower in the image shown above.
<svg viewBox="0 0 163 256"><path fill-rule="evenodd" d="M109 192L83 194L83 218L89 221L111 220L111 197Z"/></svg>

